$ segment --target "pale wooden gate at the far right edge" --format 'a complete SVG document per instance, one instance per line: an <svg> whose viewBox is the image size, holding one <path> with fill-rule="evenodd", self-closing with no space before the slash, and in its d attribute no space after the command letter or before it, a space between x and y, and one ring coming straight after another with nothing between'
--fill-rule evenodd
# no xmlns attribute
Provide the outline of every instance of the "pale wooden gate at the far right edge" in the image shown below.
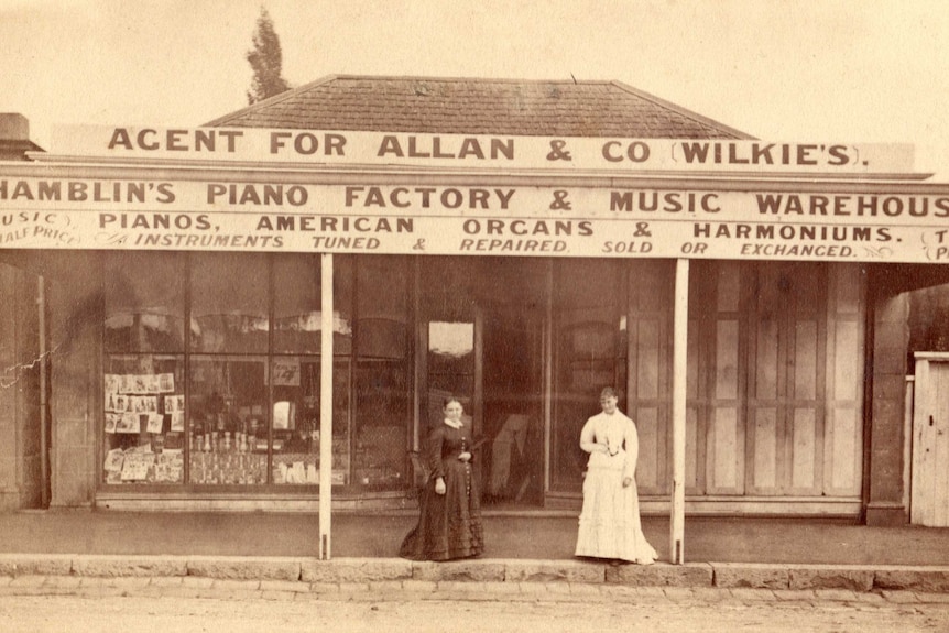
<svg viewBox="0 0 949 633"><path fill-rule="evenodd" d="M949 354L916 354L910 523L949 525Z"/></svg>

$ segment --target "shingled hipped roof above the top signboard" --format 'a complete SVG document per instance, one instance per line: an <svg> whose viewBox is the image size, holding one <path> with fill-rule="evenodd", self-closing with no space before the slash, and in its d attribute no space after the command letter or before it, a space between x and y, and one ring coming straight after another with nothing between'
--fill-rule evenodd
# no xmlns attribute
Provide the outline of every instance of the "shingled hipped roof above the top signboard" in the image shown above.
<svg viewBox="0 0 949 633"><path fill-rule="evenodd" d="M523 137L749 139L619 81L329 76L207 123Z"/></svg>

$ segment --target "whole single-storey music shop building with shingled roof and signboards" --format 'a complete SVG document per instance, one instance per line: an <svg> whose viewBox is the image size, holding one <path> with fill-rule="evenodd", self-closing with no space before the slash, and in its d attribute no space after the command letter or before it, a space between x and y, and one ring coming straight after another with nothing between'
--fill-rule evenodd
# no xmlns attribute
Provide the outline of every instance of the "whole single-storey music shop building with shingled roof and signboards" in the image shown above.
<svg viewBox="0 0 949 633"><path fill-rule="evenodd" d="M314 510L327 460L334 509L410 508L451 394L488 509L578 509L617 385L645 512L909 520L949 187L901 148L379 77L88 133L0 165L8 508Z"/></svg>

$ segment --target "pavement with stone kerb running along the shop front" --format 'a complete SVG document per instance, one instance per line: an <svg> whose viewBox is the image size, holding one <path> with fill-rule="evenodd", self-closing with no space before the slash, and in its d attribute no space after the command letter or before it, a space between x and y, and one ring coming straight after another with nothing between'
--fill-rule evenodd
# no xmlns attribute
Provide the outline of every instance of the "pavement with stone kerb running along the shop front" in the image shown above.
<svg viewBox="0 0 949 633"><path fill-rule="evenodd" d="M949 603L949 528L687 517L686 564L670 565L668 520L644 517L661 559L637 566L574 557L576 515L488 512L482 557L417 563L394 556L415 519L336 513L318 560L316 514L0 513L0 594Z"/></svg>

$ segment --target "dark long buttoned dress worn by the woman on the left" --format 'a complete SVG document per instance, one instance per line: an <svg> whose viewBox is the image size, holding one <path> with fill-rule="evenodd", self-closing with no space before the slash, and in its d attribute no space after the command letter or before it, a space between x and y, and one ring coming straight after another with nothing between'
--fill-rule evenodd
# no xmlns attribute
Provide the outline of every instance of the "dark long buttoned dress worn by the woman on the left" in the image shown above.
<svg viewBox="0 0 949 633"><path fill-rule="evenodd" d="M467 426L440 424L432 429L426 446L430 473L419 500L418 525L402 542L401 557L449 560L478 556L483 550L478 478L470 461L458 459L470 448ZM435 492L439 477L445 479L445 494Z"/></svg>

